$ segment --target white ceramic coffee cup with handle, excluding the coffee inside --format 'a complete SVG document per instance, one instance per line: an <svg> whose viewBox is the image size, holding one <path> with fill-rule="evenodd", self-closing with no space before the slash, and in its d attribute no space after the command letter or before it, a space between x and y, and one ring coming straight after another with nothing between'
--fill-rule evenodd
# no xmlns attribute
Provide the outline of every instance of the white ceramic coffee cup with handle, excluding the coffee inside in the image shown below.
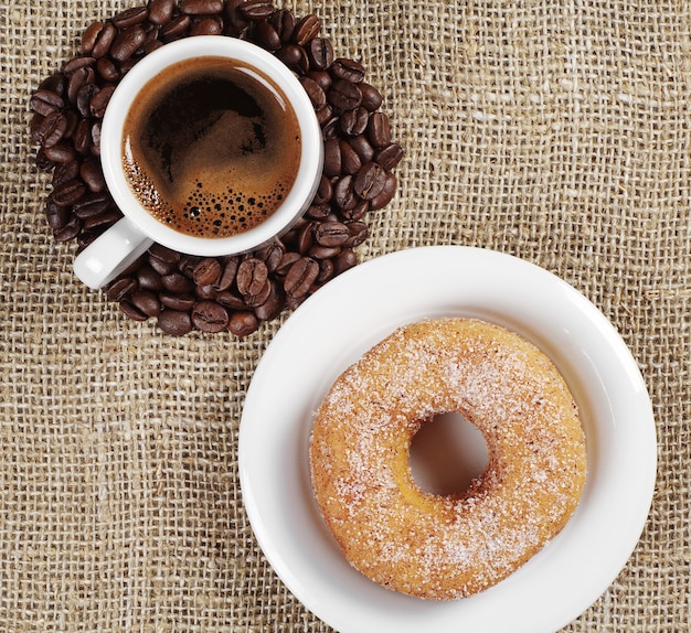
<svg viewBox="0 0 691 633"><path fill-rule="evenodd" d="M297 176L280 206L254 228L228 237L192 236L156 219L130 189L123 164L123 131L135 97L171 64L203 56L236 60L269 77L293 106L301 136ZM283 62L259 46L236 37L200 35L161 46L125 75L110 98L103 120L100 161L108 190L124 217L75 259L75 273L89 288L107 285L153 243L189 255L222 256L252 250L280 236L304 214L313 199L322 171L323 141L307 93Z"/></svg>

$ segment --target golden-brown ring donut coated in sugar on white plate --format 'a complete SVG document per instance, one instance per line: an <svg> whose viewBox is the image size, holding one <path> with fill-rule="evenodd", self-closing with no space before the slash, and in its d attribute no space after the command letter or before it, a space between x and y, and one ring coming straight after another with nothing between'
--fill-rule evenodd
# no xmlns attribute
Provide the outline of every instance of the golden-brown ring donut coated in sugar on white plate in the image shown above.
<svg viewBox="0 0 691 633"><path fill-rule="evenodd" d="M488 463L467 491L424 492L415 433L456 411ZM474 319L396 330L333 384L316 412L310 470L321 514L350 564L403 593L456 599L517 570L564 527L586 479L575 401L551 360Z"/></svg>

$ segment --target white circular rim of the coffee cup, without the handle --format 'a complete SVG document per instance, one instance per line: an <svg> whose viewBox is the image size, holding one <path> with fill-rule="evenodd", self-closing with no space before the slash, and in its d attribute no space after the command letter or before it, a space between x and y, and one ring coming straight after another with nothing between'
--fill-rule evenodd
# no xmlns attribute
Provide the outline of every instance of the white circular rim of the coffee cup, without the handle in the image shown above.
<svg viewBox="0 0 691 633"><path fill-rule="evenodd" d="M150 215L131 191L121 161L123 128L132 100L166 67L196 57L238 60L267 75L293 106L301 136L301 157L295 183L284 203L257 226L227 237L196 237L166 226ZM116 205L141 233L173 250L221 256L245 253L280 236L301 217L313 199L323 165L321 127L311 100L293 72L256 44L237 37L198 35L171 42L149 53L117 85L102 124L100 161Z"/></svg>

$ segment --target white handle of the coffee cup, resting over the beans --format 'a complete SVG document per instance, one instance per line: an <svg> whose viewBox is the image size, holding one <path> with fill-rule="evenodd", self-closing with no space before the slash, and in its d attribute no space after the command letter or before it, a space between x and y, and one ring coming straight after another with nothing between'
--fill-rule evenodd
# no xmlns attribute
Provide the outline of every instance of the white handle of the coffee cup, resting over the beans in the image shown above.
<svg viewBox="0 0 691 633"><path fill-rule="evenodd" d="M89 288L103 288L152 244L150 237L123 217L77 255L74 272Z"/></svg>

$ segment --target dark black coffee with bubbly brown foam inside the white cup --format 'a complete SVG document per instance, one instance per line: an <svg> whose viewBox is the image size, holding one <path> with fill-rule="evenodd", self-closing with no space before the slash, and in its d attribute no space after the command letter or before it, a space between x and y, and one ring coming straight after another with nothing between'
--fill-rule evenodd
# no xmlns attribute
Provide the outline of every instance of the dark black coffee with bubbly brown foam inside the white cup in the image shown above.
<svg viewBox="0 0 691 633"><path fill-rule="evenodd" d="M235 235L272 215L301 153L283 92L223 57L180 62L151 79L130 108L123 142L142 206L198 237Z"/></svg>

